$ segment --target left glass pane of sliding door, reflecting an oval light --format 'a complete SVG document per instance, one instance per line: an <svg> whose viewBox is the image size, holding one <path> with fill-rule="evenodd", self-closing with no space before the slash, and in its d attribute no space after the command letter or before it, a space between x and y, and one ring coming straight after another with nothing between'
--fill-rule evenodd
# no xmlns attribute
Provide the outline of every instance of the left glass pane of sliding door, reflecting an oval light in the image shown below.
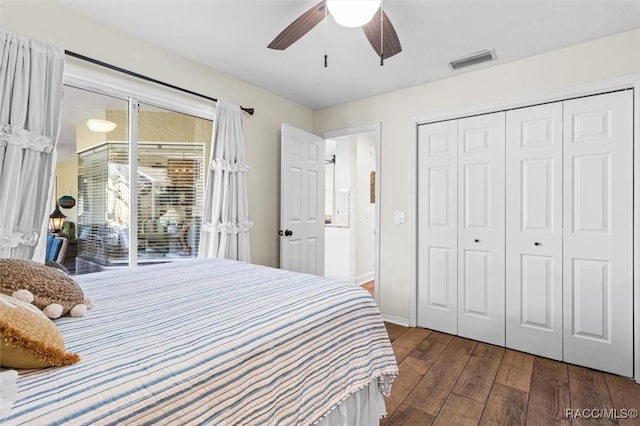
<svg viewBox="0 0 640 426"><path fill-rule="evenodd" d="M55 198L77 200L62 208L71 273L128 265L128 127L126 100L64 87Z"/></svg>

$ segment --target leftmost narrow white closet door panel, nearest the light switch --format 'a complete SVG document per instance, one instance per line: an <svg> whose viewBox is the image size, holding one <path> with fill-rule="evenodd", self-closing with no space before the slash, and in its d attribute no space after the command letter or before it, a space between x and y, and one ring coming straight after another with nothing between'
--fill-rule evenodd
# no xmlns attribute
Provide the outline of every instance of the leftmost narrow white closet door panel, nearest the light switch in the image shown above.
<svg viewBox="0 0 640 426"><path fill-rule="evenodd" d="M418 128L418 325L458 332L456 120Z"/></svg>

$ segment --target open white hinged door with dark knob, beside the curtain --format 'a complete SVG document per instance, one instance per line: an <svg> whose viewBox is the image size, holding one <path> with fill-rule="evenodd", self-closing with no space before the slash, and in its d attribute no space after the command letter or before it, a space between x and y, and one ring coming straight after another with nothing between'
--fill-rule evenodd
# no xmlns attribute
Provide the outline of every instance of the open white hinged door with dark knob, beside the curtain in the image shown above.
<svg viewBox="0 0 640 426"><path fill-rule="evenodd" d="M324 275L324 139L281 127L280 267Z"/></svg>

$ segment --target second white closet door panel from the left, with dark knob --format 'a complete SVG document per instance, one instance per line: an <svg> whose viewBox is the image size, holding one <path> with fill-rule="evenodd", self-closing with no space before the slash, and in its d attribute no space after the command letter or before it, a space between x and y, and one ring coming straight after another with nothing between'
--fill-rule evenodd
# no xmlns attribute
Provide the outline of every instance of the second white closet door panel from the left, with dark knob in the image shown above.
<svg viewBox="0 0 640 426"><path fill-rule="evenodd" d="M505 343L505 114L458 120L458 334Z"/></svg>

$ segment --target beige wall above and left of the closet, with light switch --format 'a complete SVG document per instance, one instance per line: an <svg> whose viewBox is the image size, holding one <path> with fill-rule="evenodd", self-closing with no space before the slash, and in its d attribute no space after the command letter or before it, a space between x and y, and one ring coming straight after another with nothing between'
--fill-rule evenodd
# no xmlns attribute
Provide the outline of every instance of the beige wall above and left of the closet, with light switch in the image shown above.
<svg viewBox="0 0 640 426"><path fill-rule="evenodd" d="M380 309L408 318L411 269L412 145L416 116L483 106L640 73L640 30L501 66L317 111L315 132L382 123ZM376 176L378 177L378 176ZM407 223L394 225L394 211Z"/></svg>

